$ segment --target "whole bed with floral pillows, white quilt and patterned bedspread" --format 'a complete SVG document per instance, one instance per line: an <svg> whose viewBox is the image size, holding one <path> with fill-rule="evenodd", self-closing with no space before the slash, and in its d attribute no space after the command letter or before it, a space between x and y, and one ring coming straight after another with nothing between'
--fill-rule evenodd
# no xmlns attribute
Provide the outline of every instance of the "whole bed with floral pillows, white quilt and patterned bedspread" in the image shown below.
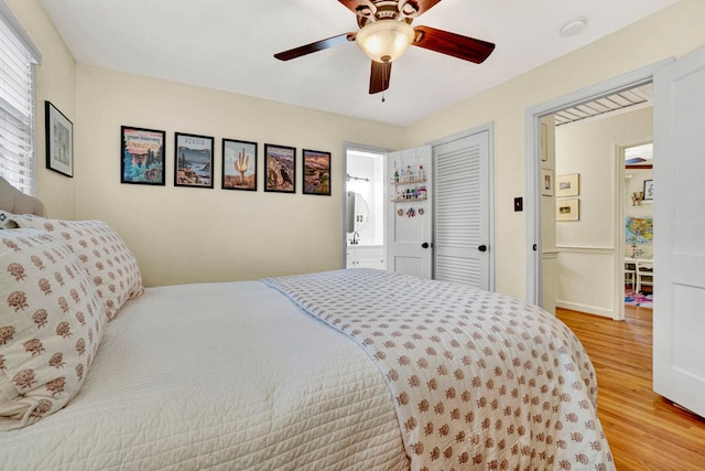
<svg viewBox="0 0 705 471"><path fill-rule="evenodd" d="M107 224L7 201L2 470L614 469L536 307L372 269L143 288Z"/></svg>

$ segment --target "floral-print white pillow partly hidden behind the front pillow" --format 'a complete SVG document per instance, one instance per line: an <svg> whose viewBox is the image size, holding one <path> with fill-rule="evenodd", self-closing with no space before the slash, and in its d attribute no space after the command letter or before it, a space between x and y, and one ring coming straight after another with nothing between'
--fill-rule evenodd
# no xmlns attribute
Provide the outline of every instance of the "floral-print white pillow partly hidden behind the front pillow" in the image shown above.
<svg viewBox="0 0 705 471"><path fill-rule="evenodd" d="M20 227L44 229L61 238L84 263L112 320L128 299L144 292L137 258L124 240L101 221L50 220L29 214L12 218Z"/></svg>

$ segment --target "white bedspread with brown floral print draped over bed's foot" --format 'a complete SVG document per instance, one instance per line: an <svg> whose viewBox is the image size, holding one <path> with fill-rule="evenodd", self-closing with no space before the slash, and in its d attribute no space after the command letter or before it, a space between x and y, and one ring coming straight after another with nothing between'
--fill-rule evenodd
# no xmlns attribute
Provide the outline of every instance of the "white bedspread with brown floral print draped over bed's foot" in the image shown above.
<svg viewBox="0 0 705 471"><path fill-rule="evenodd" d="M615 469L593 365L542 309L372 269L262 281L369 354L412 469Z"/></svg>

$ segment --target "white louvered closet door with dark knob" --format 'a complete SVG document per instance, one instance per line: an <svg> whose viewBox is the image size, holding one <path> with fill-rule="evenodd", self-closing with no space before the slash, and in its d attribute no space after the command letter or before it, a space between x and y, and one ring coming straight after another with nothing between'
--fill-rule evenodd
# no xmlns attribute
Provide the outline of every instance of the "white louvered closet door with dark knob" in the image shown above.
<svg viewBox="0 0 705 471"><path fill-rule="evenodd" d="M433 150L434 278L489 290L489 132Z"/></svg>

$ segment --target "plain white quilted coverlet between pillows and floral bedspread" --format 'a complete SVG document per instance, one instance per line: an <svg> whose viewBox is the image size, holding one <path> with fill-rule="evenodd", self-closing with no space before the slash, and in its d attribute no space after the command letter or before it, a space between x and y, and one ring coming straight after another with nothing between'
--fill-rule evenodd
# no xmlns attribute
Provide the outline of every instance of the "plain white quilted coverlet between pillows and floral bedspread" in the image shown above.
<svg viewBox="0 0 705 471"><path fill-rule="evenodd" d="M390 393L352 341L259 281L150 288L80 392L0 432L0 470L409 469Z"/></svg>

